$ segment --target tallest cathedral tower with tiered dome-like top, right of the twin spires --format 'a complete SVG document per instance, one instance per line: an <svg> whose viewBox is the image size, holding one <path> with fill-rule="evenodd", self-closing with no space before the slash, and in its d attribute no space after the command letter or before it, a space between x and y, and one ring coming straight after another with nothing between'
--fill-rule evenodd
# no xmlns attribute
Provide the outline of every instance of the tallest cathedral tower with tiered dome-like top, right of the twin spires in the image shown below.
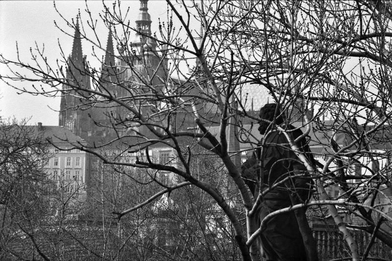
<svg viewBox="0 0 392 261"><path fill-rule="evenodd" d="M131 42L126 43L127 46L119 48L117 60L118 77L126 83L126 86L123 84L117 87L117 95L130 97L129 102L144 116L152 115L156 107L161 106L154 96L165 91L168 79L167 59L161 61L162 52L157 48L156 41L151 39L151 18L147 3L148 0L140 0L139 15L135 21L137 32ZM129 117L129 111L119 114L127 114Z"/></svg>

